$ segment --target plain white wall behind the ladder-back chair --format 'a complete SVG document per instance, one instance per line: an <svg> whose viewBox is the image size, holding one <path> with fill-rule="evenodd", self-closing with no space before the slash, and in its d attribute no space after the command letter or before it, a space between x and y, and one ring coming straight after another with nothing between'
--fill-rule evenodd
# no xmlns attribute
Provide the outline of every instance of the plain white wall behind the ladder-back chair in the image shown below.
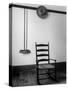
<svg viewBox="0 0 68 90"><path fill-rule="evenodd" d="M52 8L61 9L59 6ZM62 7L62 10L64 9L65 7ZM12 13L12 65L35 64L35 42L49 42L50 57L55 58L57 62L65 61L66 15L49 13L48 18L40 19L36 11L28 10L28 49L31 54L23 55L19 50L24 48L24 10L13 7Z"/></svg>

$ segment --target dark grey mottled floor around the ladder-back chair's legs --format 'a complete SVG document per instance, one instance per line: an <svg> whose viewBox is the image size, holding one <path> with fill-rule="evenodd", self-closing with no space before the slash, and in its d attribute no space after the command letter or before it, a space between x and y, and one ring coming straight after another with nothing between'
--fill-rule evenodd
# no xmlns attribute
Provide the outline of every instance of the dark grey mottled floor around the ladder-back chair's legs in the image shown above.
<svg viewBox="0 0 68 90"><path fill-rule="evenodd" d="M66 83L66 74L64 71L57 72L58 82L51 79L40 81L43 85L47 84L62 84ZM36 69L25 70L19 72L19 75L15 75L12 79L12 86L33 86L37 85Z"/></svg>

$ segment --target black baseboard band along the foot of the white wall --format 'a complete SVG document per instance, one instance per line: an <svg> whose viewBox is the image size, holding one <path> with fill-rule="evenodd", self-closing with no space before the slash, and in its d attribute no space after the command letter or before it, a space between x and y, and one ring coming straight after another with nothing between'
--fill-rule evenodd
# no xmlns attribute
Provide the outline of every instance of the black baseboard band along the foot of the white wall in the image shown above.
<svg viewBox="0 0 68 90"><path fill-rule="evenodd" d="M33 65L22 65L22 66L11 66L9 65L9 86L13 87L12 78L16 75L19 76L20 72L36 70L36 64ZM63 71L66 73L66 62L57 62L56 70L58 72Z"/></svg>

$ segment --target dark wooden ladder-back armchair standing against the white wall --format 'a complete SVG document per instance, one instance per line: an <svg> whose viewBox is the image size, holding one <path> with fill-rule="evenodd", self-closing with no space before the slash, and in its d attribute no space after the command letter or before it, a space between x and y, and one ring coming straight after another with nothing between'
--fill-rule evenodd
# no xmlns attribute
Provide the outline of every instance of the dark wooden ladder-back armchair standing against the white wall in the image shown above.
<svg viewBox="0 0 68 90"><path fill-rule="evenodd" d="M49 43L47 43L47 44L35 43L35 46L36 46L37 83L39 85L41 85L40 80L46 80L48 78L56 80L56 60L50 59ZM39 57L41 57L41 59ZM45 58L43 58L43 57L45 57ZM53 61L53 63L51 63L51 61ZM40 64L40 62L44 62L44 63ZM47 62L47 63L45 63L45 62ZM42 70L44 70L45 73L42 73ZM40 78L41 75L47 75L47 77Z"/></svg>

